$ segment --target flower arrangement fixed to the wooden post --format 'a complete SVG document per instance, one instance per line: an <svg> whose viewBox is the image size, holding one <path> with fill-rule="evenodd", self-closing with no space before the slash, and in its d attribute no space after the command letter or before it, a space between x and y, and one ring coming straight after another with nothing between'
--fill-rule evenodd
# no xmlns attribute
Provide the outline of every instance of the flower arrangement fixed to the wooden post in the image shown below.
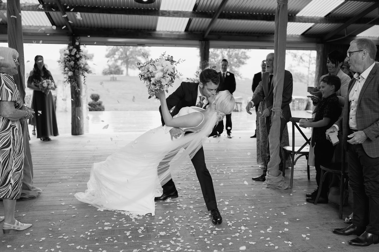
<svg viewBox="0 0 379 252"><path fill-rule="evenodd" d="M64 50L63 57L58 60L58 63L63 69L64 82L69 83L78 90L77 75L83 76L83 84L86 83L86 74L91 74L92 71L87 63L88 57L80 49L80 43L75 40L73 45L67 46Z"/></svg>

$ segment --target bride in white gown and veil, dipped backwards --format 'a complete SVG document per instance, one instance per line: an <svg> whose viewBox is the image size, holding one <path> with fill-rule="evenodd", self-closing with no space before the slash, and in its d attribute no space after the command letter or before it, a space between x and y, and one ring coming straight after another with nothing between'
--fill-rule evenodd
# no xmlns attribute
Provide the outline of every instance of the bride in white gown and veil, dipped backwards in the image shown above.
<svg viewBox="0 0 379 252"><path fill-rule="evenodd" d="M172 117L164 91L155 94L161 103L166 125L154 128L122 147L99 163L94 163L87 182L88 189L75 197L100 210L121 210L155 215L154 196L160 183L171 179L171 171L183 165L202 147L213 127L232 113L235 100L229 91L208 98L206 109L184 107ZM171 140L170 128L190 134Z"/></svg>

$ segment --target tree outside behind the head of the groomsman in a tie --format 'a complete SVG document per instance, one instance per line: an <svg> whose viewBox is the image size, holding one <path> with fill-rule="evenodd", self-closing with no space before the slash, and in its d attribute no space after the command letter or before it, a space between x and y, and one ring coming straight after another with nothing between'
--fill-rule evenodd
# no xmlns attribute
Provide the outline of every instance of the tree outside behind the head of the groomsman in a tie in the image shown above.
<svg viewBox="0 0 379 252"><path fill-rule="evenodd" d="M219 70L221 60L226 59L229 65L228 71L235 74L235 76L241 77L241 73L238 70L241 66L245 65L246 61L250 58L246 52L246 49L210 48L209 66Z"/></svg>

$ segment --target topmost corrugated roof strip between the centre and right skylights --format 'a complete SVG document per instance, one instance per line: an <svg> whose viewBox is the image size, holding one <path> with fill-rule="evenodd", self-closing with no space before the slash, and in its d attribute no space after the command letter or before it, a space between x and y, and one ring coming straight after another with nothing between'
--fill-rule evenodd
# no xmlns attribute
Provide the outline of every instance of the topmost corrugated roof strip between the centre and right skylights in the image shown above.
<svg viewBox="0 0 379 252"><path fill-rule="evenodd" d="M291 0L288 5L288 14L296 15L311 0ZM202 0L197 6L197 11L216 11L221 1ZM228 1L224 11L256 14L275 14L276 0L232 0Z"/></svg>

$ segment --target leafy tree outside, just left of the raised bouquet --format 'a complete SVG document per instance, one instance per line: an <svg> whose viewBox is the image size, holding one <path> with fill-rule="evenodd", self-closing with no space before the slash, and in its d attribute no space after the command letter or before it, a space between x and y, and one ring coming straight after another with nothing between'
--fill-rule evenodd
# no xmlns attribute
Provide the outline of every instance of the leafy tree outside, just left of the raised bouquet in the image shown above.
<svg viewBox="0 0 379 252"><path fill-rule="evenodd" d="M141 46L107 46L105 57L109 59L108 62L124 66L126 75L129 76L129 70L137 69L137 63L144 61L141 51L150 53L146 47Z"/></svg>

